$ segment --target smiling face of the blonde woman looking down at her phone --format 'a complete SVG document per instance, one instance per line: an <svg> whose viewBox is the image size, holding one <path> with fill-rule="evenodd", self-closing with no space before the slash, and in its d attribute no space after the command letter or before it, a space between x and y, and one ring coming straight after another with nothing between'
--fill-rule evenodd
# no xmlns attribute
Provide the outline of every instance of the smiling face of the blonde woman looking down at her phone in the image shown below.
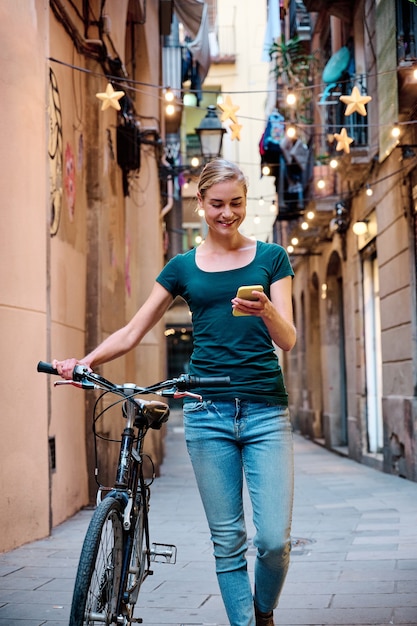
<svg viewBox="0 0 417 626"><path fill-rule="evenodd" d="M235 234L246 217L246 194L242 183L228 180L198 194L209 229L216 233Z"/></svg>

